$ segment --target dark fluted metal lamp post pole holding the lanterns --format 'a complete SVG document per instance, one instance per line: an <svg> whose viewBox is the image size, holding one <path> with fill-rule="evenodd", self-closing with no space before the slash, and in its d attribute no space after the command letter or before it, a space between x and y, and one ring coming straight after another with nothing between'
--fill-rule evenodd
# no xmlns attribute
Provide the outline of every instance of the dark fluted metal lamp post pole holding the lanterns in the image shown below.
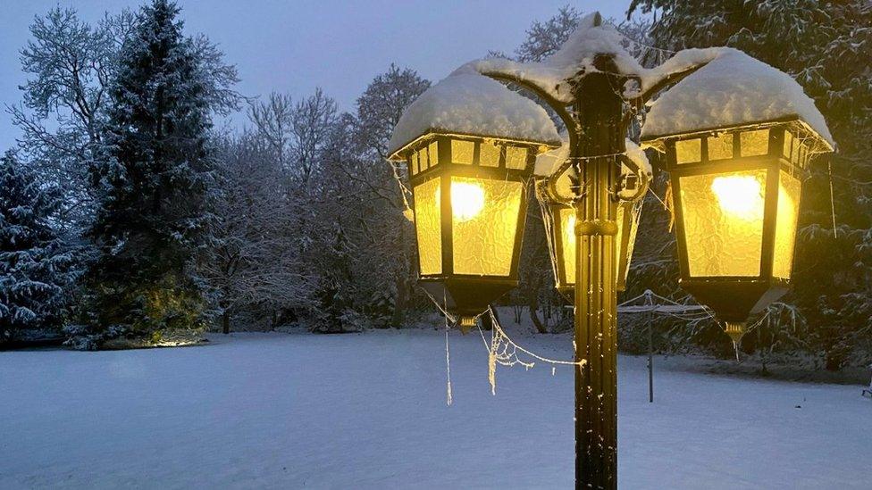
<svg viewBox="0 0 872 490"><path fill-rule="evenodd" d="M614 62L575 86L575 487L617 488L616 190L625 148ZM572 130L572 129L570 129Z"/></svg>

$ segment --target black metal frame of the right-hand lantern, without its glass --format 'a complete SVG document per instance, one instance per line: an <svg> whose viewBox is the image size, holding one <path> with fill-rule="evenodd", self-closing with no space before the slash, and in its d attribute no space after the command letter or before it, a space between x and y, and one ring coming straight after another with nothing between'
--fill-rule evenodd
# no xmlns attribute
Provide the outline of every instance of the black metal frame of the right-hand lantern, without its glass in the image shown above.
<svg viewBox="0 0 872 490"><path fill-rule="evenodd" d="M767 130L767 151L765 154L742 155L744 132ZM724 134L732 134L732 156L725 159L709 159L709 139ZM784 154L784 141L791 135L790 154ZM699 162L678 162L675 144L679 141L700 140ZM796 142L799 142L797 145ZM798 117L781 120L768 120L741 126L706 129L687 134L647 137L643 143L666 154L663 170L669 172L672 203L675 211L676 243L680 270L679 285L692 293L700 303L705 303L716 311L720 320L727 324L742 323L750 314L757 313L769 303L776 301L787 292L792 277L793 254L790 257L789 277L774 274L776 254L776 223L778 219L778 198L781 172L797 179L801 195L803 179L808 175L811 154L833 151L809 125ZM796 148L795 153L793 148ZM763 195L763 217L759 256L759 270L755 276L693 276L689 260L689 246L686 235L686 212L683 209L682 178L694 176L716 176L718 174L764 170L765 190ZM796 202L797 220L801 197ZM792 237L795 246L795 231Z"/></svg>

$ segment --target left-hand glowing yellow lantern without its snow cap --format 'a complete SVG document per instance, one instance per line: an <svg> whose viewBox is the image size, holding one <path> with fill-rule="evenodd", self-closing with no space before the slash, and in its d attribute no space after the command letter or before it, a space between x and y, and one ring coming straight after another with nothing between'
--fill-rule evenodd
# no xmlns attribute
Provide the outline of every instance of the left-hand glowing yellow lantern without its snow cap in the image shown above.
<svg viewBox="0 0 872 490"><path fill-rule="evenodd" d="M547 149L430 131L390 156L408 165L419 282L461 328L517 286L527 181Z"/></svg>

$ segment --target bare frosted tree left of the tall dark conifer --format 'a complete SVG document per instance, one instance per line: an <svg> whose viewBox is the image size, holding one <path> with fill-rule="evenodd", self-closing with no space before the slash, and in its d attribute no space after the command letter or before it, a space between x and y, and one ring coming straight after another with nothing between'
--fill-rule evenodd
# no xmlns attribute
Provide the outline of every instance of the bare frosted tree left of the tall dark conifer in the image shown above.
<svg viewBox="0 0 872 490"><path fill-rule="evenodd" d="M21 151L44 179L61 189L60 223L76 235L88 227L94 202L88 164L106 120L116 54L130 32L129 11L96 25L75 10L55 7L30 25L21 49L21 104L7 106L21 129Z"/></svg>

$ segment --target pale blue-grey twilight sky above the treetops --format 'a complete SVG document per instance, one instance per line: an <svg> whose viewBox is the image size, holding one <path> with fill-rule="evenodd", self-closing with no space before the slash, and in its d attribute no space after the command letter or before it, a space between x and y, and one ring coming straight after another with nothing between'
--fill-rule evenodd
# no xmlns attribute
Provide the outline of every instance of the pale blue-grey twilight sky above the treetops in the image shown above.
<svg viewBox="0 0 872 490"><path fill-rule="evenodd" d="M145 0L0 0L0 107L21 100L19 50L34 15L55 5L73 7L84 21ZM294 97L315 87L340 110L391 62L438 80L488 50L512 53L533 20L545 21L564 4L620 18L625 2L591 0L179 0L188 34L217 42L242 78L246 96L272 90ZM629 3L629 2L626 2ZM233 123L245 122L242 115ZM14 145L18 129L0 112L0 152Z"/></svg>

